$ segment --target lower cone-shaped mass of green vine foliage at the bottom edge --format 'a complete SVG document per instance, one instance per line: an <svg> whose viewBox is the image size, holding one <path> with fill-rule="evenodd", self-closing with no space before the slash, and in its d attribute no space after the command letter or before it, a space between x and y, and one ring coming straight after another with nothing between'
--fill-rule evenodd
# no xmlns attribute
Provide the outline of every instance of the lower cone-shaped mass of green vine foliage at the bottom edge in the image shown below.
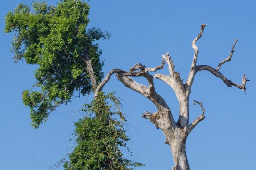
<svg viewBox="0 0 256 170"><path fill-rule="evenodd" d="M116 111L111 111L108 100L116 106ZM126 148L129 138L121 123L126 120L119 108L120 102L113 93L104 95L103 92L86 105L89 116L75 123L77 145L69 154L70 161L64 164L66 170L127 170L143 166L126 159L120 151Z"/></svg>

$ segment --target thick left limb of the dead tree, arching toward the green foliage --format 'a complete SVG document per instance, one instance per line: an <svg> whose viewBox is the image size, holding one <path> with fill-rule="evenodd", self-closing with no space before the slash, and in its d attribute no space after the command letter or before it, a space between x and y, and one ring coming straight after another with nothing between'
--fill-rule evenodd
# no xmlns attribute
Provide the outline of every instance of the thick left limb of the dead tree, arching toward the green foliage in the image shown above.
<svg viewBox="0 0 256 170"><path fill-rule="evenodd" d="M130 72L126 72L120 69L113 69L110 72L108 72L106 78L96 88L94 98L97 98L98 93L109 81L111 75L116 73L117 79L121 81L121 83L123 83L125 87L137 91L138 93L142 94L143 96L151 100L159 111L159 115L158 112L154 114L145 112L145 114L142 115L143 117L149 118L150 121L152 121L154 125L156 125L156 127L161 128L162 130L166 130L171 126L176 127L176 123L171 114L169 106L166 104L165 100L159 94L156 93L156 90L154 88L153 76L149 74L149 72L155 72L156 70L162 69L164 64L165 58L162 59L161 66L156 66L154 68L146 68L142 64L138 63L130 68ZM134 81L131 77L145 77L148 80L149 86L139 84L136 81ZM162 123L161 125L159 125L157 122L158 119L160 119L160 117L162 117L161 120L164 119L166 123Z"/></svg>

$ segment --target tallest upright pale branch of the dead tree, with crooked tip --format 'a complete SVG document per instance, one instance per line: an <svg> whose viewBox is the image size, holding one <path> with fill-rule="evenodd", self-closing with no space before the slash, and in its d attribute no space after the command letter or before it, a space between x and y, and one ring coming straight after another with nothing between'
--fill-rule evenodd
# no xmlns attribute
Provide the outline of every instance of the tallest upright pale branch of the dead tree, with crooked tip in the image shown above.
<svg viewBox="0 0 256 170"><path fill-rule="evenodd" d="M195 42L201 38L203 32L204 32L204 27L206 26L206 24L202 24L201 25L201 31L199 33L199 35L197 37L195 37L195 39L192 41L192 48L195 50L194 52L194 57L193 57L193 61L192 61L192 64L191 64L191 69L190 69L190 72L189 72L189 77L187 79L187 85L189 87L191 87L191 84L193 83L193 80L194 80L194 77L195 77L195 67L196 67L196 63L197 63L197 56L198 56L198 53L199 53L199 50L198 50L198 47L197 45L195 44Z"/></svg>

